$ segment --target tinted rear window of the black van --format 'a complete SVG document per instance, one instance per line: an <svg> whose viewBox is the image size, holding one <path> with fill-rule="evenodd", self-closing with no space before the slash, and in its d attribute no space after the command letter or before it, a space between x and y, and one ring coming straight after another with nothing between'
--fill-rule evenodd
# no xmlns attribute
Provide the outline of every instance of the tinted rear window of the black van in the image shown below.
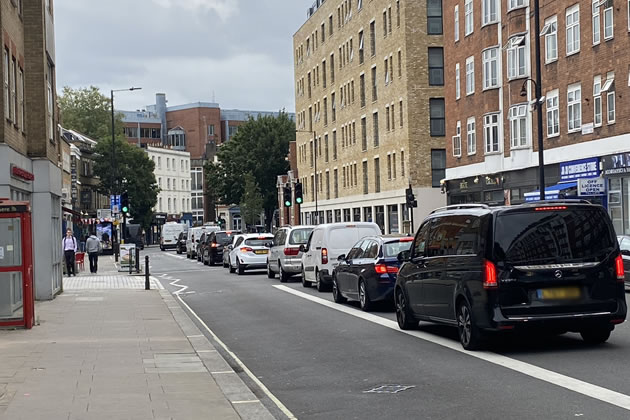
<svg viewBox="0 0 630 420"><path fill-rule="evenodd" d="M496 218L494 255L508 263L599 262L617 244L600 207L507 212Z"/></svg>

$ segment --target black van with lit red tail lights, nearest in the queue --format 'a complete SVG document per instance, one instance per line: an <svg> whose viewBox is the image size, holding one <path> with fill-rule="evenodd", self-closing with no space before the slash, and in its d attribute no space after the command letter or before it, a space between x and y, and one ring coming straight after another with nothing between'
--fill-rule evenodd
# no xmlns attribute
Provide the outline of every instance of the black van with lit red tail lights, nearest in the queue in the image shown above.
<svg viewBox="0 0 630 420"><path fill-rule="evenodd" d="M478 348L487 331L525 326L602 343L626 318L612 223L585 201L439 209L399 259L400 328L457 326L465 349Z"/></svg>

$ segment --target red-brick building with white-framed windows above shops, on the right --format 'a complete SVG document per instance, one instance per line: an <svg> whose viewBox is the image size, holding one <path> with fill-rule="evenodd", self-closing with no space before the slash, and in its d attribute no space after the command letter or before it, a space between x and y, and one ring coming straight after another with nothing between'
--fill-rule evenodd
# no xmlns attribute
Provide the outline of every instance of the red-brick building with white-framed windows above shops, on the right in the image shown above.
<svg viewBox="0 0 630 420"><path fill-rule="evenodd" d="M527 0L444 5L449 202L539 198L540 36L546 197L601 203L630 232L630 3L541 1L539 34Z"/></svg>

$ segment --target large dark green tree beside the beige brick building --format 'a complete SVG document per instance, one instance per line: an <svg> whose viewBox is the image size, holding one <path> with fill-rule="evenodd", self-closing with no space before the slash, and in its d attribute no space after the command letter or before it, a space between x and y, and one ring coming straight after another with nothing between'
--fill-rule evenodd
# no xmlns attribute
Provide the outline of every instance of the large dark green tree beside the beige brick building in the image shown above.
<svg viewBox="0 0 630 420"><path fill-rule="evenodd" d="M219 149L223 175L222 199L240 203L244 193L243 175L251 172L263 198L266 224L269 227L277 207L278 175L286 174L289 142L295 140L295 123L283 111L277 117L250 118Z"/></svg>

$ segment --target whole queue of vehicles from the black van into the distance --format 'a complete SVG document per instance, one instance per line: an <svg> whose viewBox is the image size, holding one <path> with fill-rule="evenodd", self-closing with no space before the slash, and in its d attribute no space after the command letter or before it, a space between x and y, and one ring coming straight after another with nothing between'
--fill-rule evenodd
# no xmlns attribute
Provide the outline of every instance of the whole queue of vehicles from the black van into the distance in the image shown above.
<svg viewBox="0 0 630 420"><path fill-rule="evenodd" d="M403 330L421 321L455 327L468 350L522 329L603 343L625 321L630 287L630 236L616 236L604 208L583 200L451 205L414 236L382 235L371 222L274 235L213 230L201 234L196 255L239 275L299 275L304 287L364 311L389 304Z"/></svg>

